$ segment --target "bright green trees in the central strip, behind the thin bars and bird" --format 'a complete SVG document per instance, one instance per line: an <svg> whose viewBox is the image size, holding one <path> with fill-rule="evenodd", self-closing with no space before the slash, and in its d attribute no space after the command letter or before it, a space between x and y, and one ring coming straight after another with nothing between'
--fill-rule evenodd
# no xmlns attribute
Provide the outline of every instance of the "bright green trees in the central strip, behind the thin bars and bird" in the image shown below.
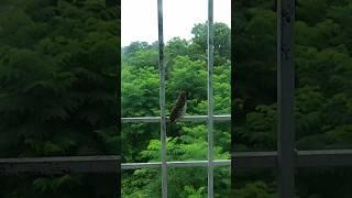
<svg viewBox="0 0 352 198"><path fill-rule="evenodd" d="M217 63L213 75L215 112L230 113L230 29L216 23ZM206 23L195 25L191 41L175 37L165 45L167 64L166 111L183 89L190 91L187 114L207 113ZM228 54L227 54L228 53ZM155 44L133 42L122 48L122 114L123 117L158 116L158 66ZM125 108L123 108L125 107ZM204 124L177 123L182 136L167 138L168 161L196 161L207 158L207 128ZM161 141L157 124L125 124L122 131L123 156L127 162L160 162ZM218 144L215 158L230 158L229 124L221 123L215 130ZM142 168L125 173L123 197L160 197L161 175ZM206 197L204 168L172 168L168 170L170 197ZM217 187L230 188L229 172L218 172L221 183ZM227 176L227 177L226 177ZM139 179L138 179L139 177ZM134 182L138 179L139 182ZM229 193L217 194L217 197Z"/></svg>

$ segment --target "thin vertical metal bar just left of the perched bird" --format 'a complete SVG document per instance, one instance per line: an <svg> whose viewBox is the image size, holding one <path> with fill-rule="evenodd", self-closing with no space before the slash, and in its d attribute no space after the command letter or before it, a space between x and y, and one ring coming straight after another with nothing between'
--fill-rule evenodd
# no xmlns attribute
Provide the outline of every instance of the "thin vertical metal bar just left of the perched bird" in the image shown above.
<svg viewBox="0 0 352 198"><path fill-rule="evenodd" d="M167 198L167 164L166 164L166 112L165 112L165 62L164 62L164 30L163 0L157 0L158 26L158 70L160 70L160 111L161 111L161 158L162 158L162 196Z"/></svg>

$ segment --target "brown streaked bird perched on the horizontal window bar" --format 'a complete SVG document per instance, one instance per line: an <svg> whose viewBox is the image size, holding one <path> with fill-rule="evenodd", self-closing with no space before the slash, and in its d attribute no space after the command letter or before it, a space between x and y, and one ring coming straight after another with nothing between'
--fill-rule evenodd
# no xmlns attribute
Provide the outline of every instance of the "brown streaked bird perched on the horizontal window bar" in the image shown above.
<svg viewBox="0 0 352 198"><path fill-rule="evenodd" d="M169 125L167 130L168 134L172 134L173 124L175 124L186 113L187 100L189 96L190 92L187 89L180 91L180 94L178 95L178 98L173 106L172 112L169 114ZM180 136L179 132L176 132L176 135Z"/></svg>

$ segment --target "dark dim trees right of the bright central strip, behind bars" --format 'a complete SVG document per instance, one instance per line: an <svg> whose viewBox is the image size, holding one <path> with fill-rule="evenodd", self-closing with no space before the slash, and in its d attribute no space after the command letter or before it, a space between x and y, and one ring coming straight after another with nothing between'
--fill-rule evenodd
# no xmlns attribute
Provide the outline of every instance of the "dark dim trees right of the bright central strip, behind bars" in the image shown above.
<svg viewBox="0 0 352 198"><path fill-rule="evenodd" d="M237 74L233 151L276 150L276 1L233 1ZM295 135L297 150L352 147L352 1L297 0ZM351 197L349 167L296 169L301 198ZM276 197L277 169L234 174L234 197Z"/></svg>

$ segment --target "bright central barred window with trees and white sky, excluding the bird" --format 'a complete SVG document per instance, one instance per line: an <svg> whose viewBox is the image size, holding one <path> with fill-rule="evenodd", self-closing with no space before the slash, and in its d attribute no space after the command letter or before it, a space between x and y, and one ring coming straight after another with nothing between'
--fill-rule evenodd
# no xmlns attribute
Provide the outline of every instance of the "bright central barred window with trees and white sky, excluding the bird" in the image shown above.
<svg viewBox="0 0 352 198"><path fill-rule="evenodd" d="M122 196L229 196L230 13L230 1L122 1ZM184 89L186 116L168 130Z"/></svg>

